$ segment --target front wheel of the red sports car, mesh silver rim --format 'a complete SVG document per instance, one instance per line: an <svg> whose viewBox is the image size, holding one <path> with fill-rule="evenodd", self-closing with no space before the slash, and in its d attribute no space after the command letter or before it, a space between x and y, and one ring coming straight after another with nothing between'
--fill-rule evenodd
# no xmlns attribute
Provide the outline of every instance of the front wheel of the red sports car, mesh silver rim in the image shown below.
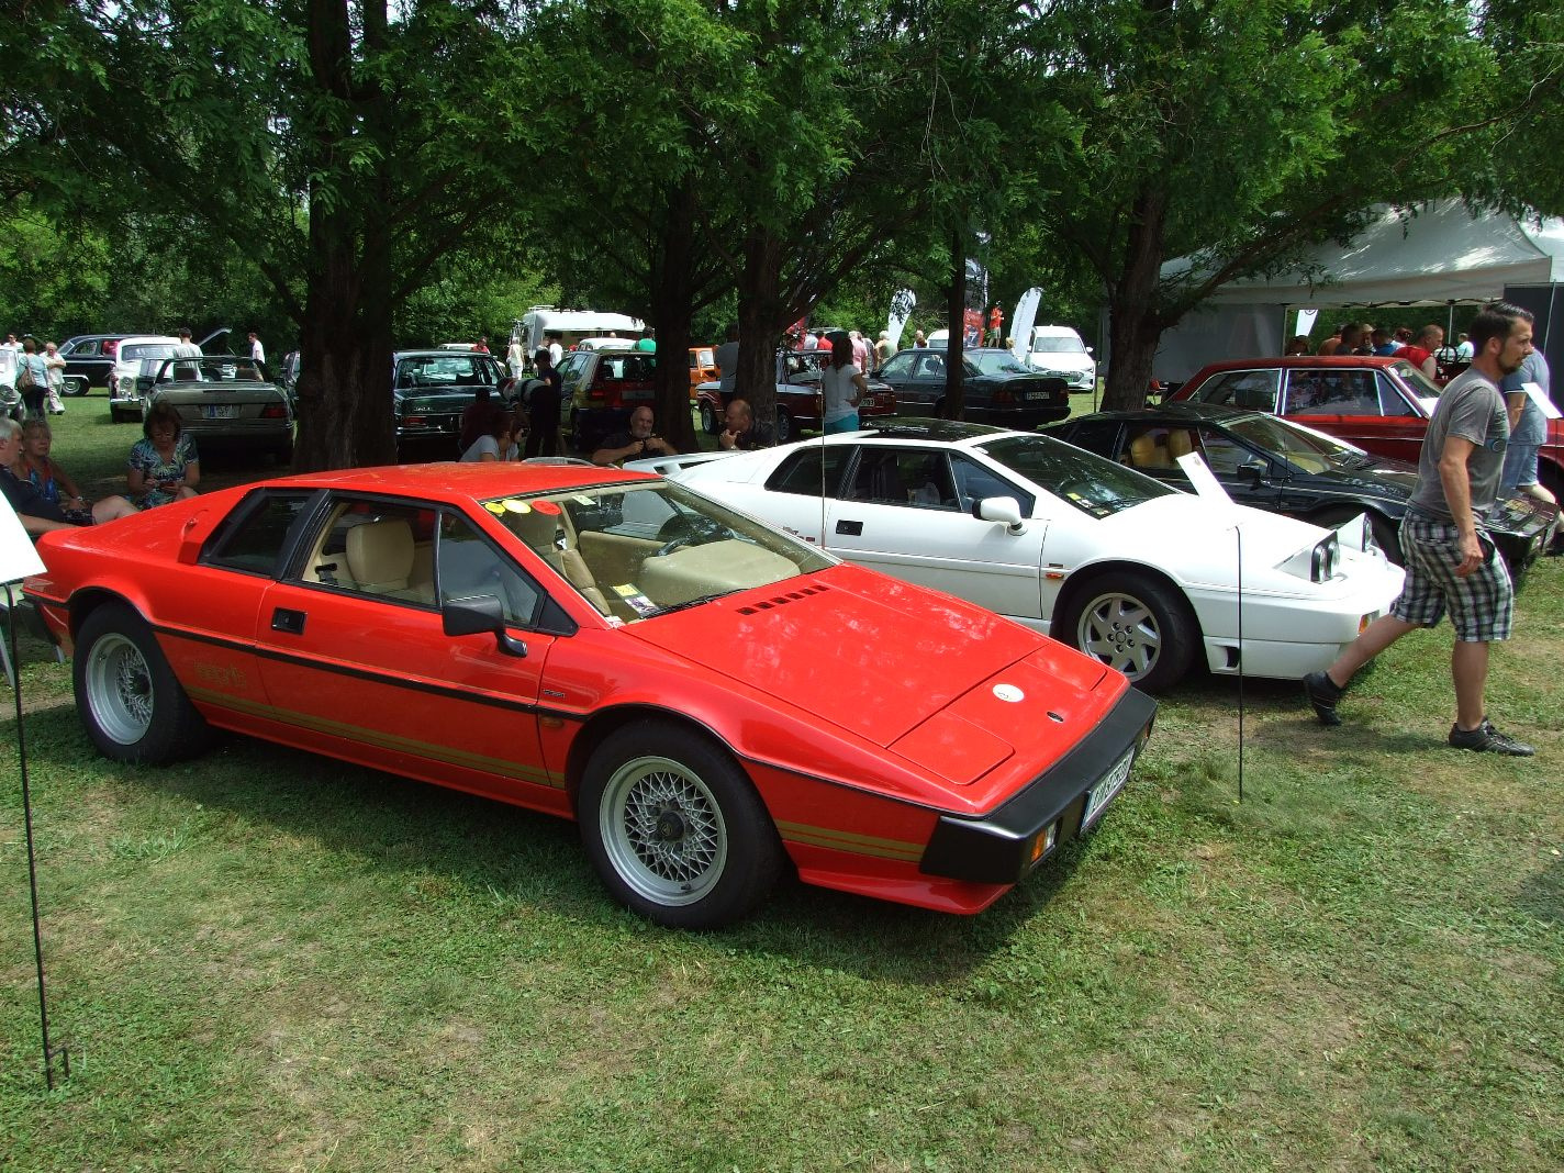
<svg viewBox="0 0 1564 1173"><path fill-rule="evenodd" d="M632 912L716 929L766 896L785 859L743 769L699 734L637 721L593 752L577 795L582 845Z"/></svg>

